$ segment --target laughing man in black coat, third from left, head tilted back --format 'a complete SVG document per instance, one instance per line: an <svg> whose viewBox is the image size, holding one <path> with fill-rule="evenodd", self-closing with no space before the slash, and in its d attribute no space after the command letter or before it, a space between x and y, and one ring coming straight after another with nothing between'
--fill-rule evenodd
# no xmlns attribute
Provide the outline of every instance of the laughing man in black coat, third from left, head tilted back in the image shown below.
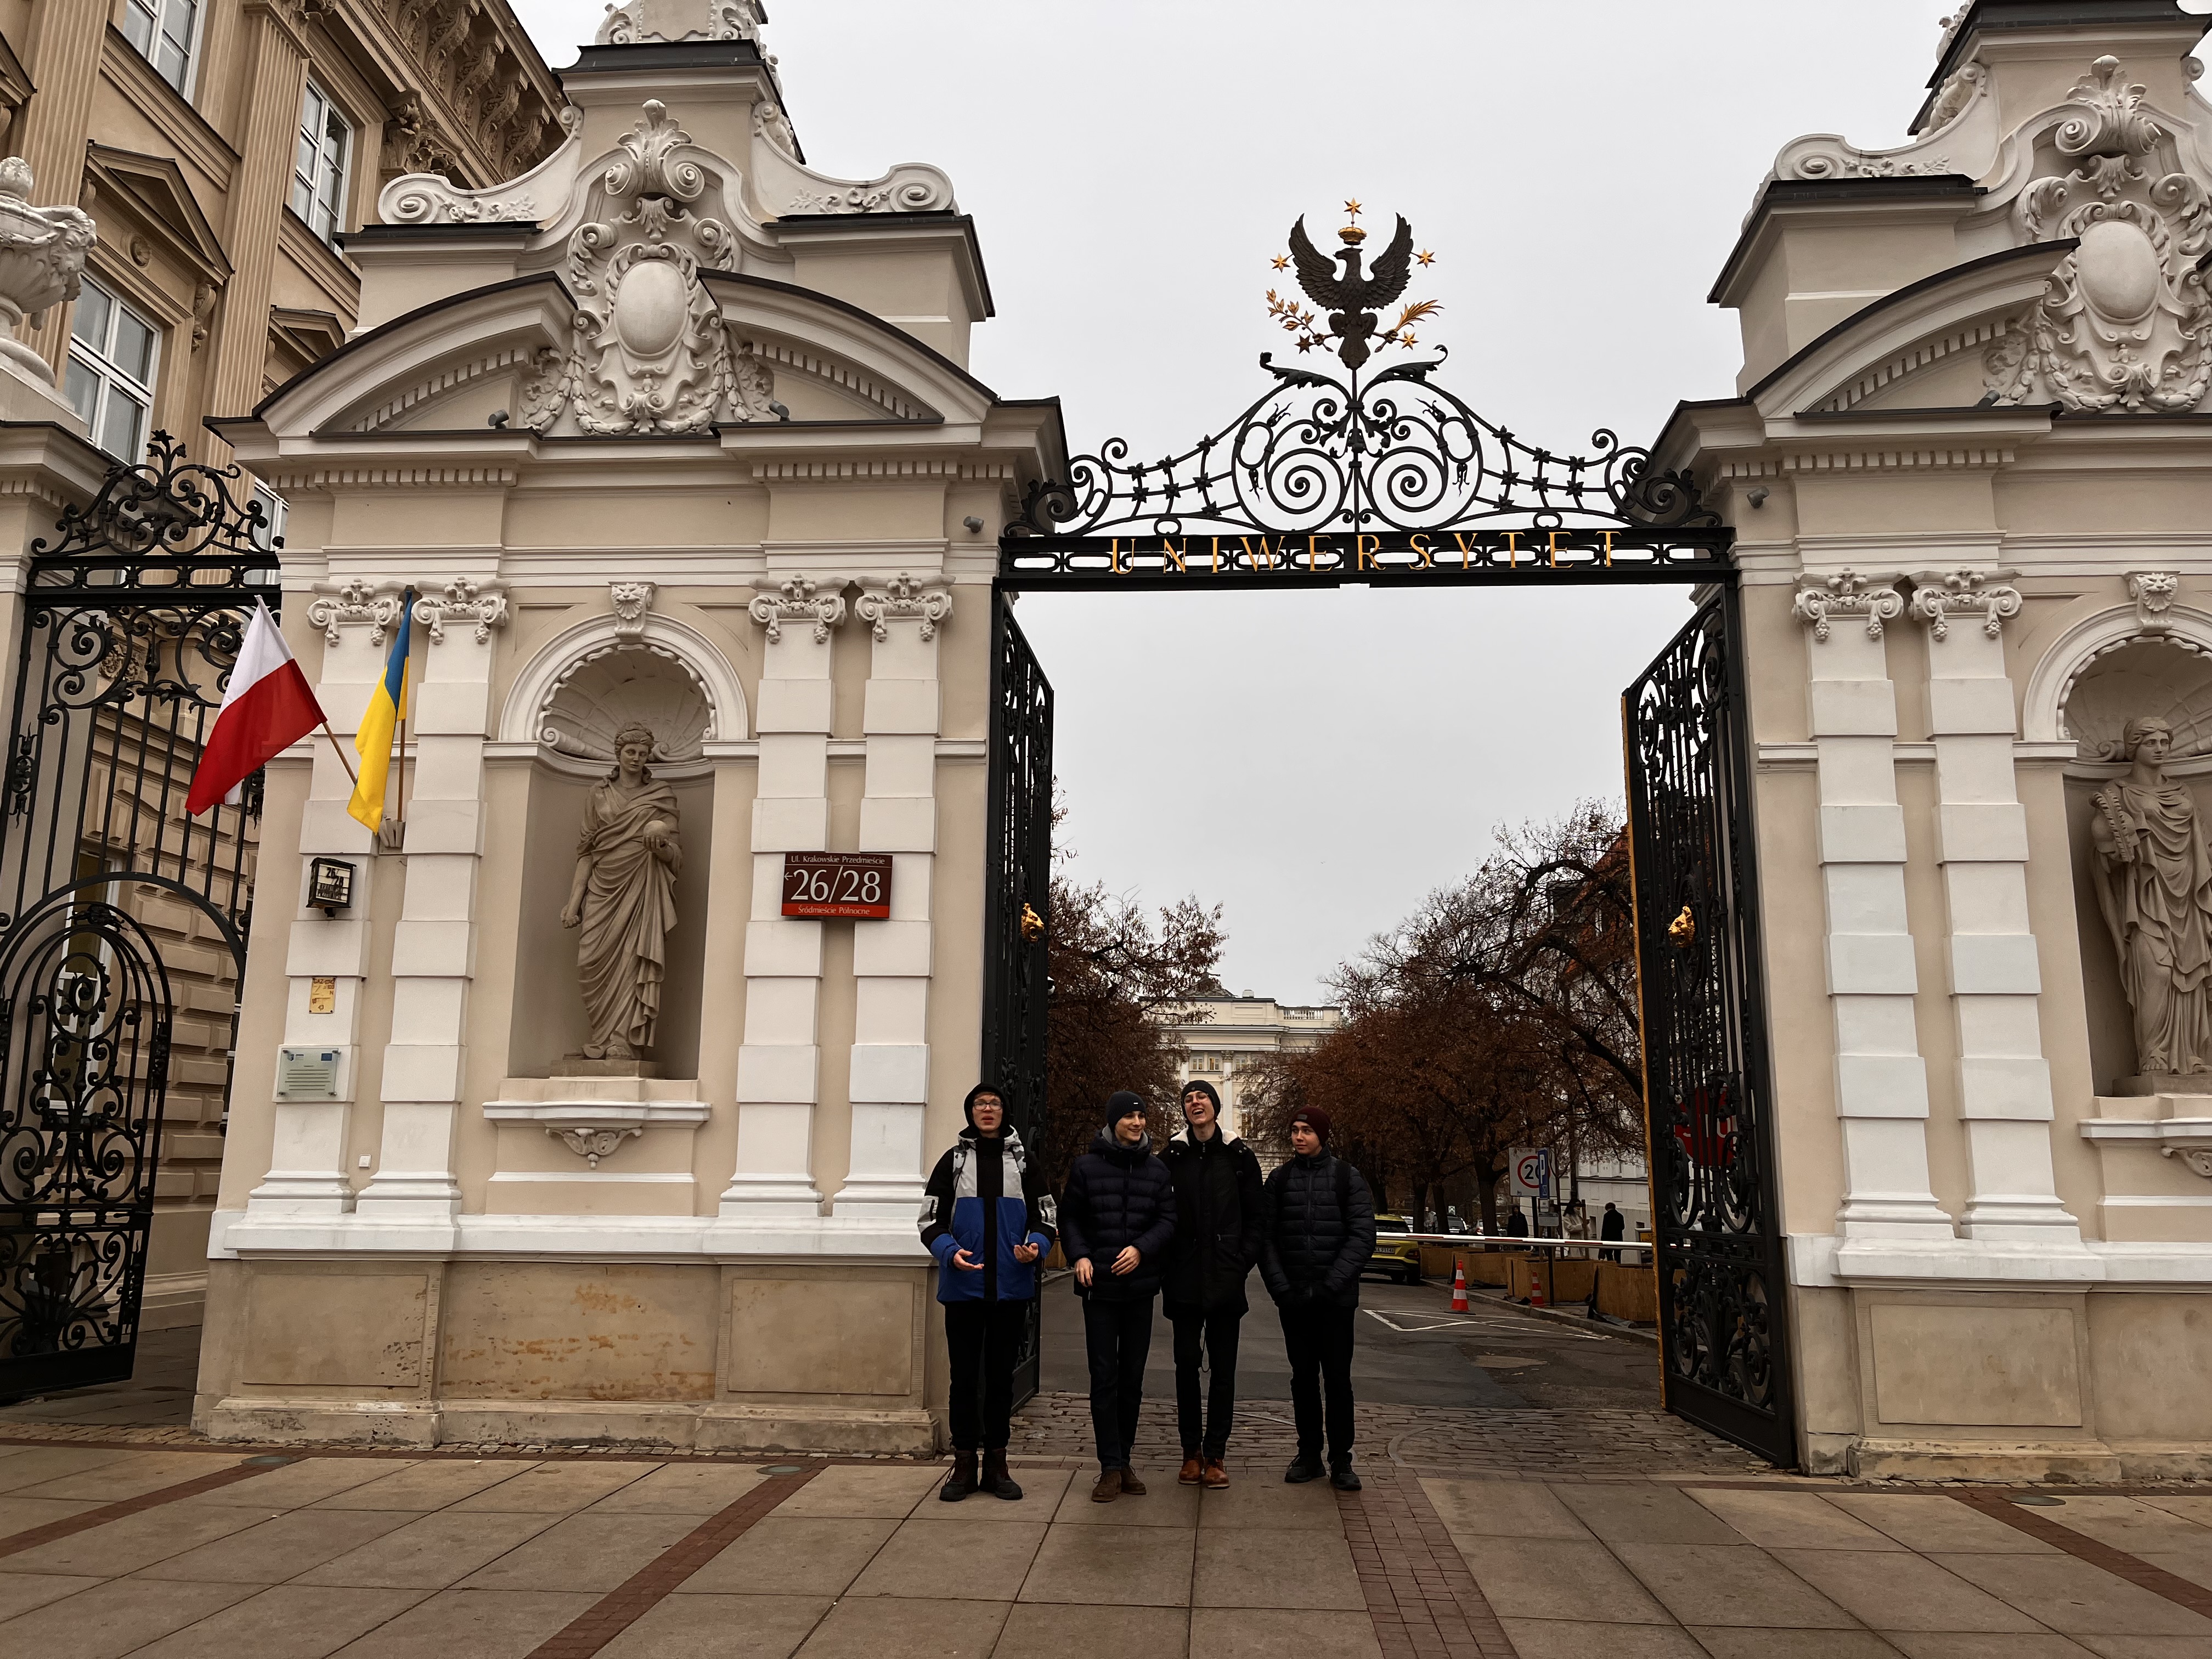
<svg viewBox="0 0 2212 1659"><path fill-rule="evenodd" d="M1159 1161L1175 1183L1175 1243L1161 1279L1161 1312L1175 1325L1175 1407L1183 1431L1186 1486L1228 1486L1223 1467L1237 1413L1237 1332L1248 1312L1245 1274L1259 1261L1259 1157L1221 1133L1221 1095L1194 1079L1183 1084L1188 1130ZM1199 1400L1199 1365L1212 1365L1212 1387Z"/></svg>

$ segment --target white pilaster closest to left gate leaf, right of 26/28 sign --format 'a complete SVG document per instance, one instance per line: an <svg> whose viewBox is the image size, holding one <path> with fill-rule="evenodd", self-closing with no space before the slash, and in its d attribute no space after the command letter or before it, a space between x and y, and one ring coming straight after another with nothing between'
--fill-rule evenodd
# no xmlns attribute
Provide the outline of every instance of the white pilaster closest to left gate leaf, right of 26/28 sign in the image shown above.
<svg viewBox="0 0 2212 1659"><path fill-rule="evenodd" d="M860 852L891 854L891 918L854 922L852 1164L832 1214L911 1217L929 1177L931 880L938 847L938 624L951 591L900 575L858 599L869 624Z"/></svg>

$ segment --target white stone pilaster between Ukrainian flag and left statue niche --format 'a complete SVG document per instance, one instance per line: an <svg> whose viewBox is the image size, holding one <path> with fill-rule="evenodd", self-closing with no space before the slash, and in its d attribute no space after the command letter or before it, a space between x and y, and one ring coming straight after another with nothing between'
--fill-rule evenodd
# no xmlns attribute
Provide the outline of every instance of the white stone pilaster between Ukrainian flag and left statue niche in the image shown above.
<svg viewBox="0 0 2212 1659"><path fill-rule="evenodd" d="M427 639L422 684L409 699L407 894L392 936L383 1150L358 1210L363 1219L436 1223L460 1214L453 1135L476 978L491 659L507 595L449 582L418 599L414 617Z"/></svg>

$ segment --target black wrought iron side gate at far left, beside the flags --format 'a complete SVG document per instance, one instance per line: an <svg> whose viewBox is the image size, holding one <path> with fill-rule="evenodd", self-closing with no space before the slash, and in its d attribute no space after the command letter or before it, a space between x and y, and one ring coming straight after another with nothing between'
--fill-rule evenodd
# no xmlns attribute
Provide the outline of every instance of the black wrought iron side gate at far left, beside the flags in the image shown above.
<svg viewBox="0 0 2212 1659"><path fill-rule="evenodd" d="M279 599L234 480L155 434L31 549L0 814L0 1400L131 1376L177 1037L146 911L204 925L232 1000L246 964L259 779L184 812L241 606Z"/></svg>

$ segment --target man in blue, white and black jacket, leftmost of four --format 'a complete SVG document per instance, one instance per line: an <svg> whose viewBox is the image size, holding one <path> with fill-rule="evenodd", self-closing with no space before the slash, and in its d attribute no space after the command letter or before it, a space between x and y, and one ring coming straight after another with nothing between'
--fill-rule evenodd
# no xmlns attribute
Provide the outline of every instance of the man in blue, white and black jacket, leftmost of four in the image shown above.
<svg viewBox="0 0 2212 1659"><path fill-rule="evenodd" d="M998 1088L975 1084L967 1119L922 1190L922 1248L938 1259L953 1371L953 1473L938 1491L947 1504L958 1504L978 1484L993 1498L1022 1495L1006 1473L1013 1363L1029 1303L1037 1296L1037 1256L1055 1237L1053 1194L1022 1137L1006 1128Z"/></svg>

